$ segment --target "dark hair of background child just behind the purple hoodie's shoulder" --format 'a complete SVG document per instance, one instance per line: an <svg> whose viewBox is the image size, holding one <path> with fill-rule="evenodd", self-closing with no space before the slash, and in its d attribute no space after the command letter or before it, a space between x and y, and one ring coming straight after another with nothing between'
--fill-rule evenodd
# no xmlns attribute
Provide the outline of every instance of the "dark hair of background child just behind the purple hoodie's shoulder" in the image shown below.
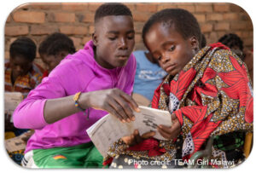
<svg viewBox="0 0 256 173"><path fill-rule="evenodd" d="M56 55L61 51L67 51L68 53L73 54L76 52L76 49L73 40L60 32L50 34L42 43L40 43L38 48L40 55Z"/></svg>

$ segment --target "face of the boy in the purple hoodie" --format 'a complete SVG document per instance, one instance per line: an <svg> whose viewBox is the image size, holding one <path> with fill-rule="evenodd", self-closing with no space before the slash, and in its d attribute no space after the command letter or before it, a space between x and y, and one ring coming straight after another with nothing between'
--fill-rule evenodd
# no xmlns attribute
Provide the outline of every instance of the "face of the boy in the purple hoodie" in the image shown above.
<svg viewBox="0 0 256 173"><path fill-rule="evenodd" d="M125 66L134 48L133 20L129 15L109 15L96 23L95 59L104 68Z"/></svg>

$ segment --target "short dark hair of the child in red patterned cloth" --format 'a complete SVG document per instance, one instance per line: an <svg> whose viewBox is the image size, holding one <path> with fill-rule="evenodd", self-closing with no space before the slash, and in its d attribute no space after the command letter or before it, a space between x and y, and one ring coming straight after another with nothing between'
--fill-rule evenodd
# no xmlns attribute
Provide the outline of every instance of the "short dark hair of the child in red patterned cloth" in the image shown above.
<svg viewBox="0 0 256 173"><path fill-rule="evenodd" d="M155 23L163 23L168 27L174 26L184 39L195 36L201 47L201 29L195 16L185 9L163 9L153 14L143 26L143 41L145 35Z"/></svg>

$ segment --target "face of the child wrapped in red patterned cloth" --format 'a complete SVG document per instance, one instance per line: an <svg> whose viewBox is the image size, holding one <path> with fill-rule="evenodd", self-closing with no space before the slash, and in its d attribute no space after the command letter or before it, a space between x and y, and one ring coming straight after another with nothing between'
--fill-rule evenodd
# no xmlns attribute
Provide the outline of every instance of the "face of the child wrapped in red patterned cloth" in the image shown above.
<svg viewBox="0 0 256 173"><path fill-rule="evenodd" d="M180 72L199 50L196 37L184 39L173 26L162 23L151 26L144 43L160 66L172 76Z"/></svg>

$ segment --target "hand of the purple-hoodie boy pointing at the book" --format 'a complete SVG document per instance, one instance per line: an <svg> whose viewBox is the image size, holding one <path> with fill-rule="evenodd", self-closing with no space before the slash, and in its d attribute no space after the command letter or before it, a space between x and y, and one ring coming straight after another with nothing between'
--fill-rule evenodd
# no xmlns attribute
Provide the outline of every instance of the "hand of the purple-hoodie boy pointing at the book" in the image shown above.
<svg viewBox="0 0 256 173"><path fill-rule="evenodd" d="M137 102L120 89L93 91L89 96L90 107L110 112L123 123L135 120L133 110L139 112Z"/></svg>

